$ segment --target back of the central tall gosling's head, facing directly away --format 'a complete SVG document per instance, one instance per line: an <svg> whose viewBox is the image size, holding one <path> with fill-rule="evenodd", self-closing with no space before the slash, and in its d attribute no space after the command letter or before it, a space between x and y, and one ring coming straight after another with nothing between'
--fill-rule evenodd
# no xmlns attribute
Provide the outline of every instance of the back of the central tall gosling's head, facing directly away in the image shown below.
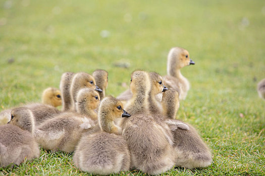
<svg viewBox="0 0 265 176"><path fill-rule="evenodd" d="M149 74L145 71L136 70L131 74L130 90L133 95L142 95L150 91Z"/></svg>

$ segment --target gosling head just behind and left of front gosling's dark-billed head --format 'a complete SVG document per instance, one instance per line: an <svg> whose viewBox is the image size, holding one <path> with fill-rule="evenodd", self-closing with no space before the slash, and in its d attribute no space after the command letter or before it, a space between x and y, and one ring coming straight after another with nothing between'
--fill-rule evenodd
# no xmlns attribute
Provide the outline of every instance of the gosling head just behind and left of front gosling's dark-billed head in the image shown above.
<svg viewBox="0 0 265 176"><path fill-rule="evenodd" d="M86 88L78 92L76 101L77 112L82 113L82 110L96 109L99 106L100 98L96 91Z"/></svg>

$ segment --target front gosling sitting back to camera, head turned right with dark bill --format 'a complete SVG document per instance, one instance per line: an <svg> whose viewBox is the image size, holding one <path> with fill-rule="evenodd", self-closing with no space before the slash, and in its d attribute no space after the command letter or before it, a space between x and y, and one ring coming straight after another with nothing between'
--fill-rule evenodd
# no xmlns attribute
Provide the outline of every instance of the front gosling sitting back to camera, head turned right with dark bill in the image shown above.
<svg viewBox="0 0 265 176"><path fill-rule="evenodd" d="M122 102L114 97L104 98L99 106L98 121L101 131L84 135L76 147L73 161L81 170L107 175L129 170L130 153L120 127L114 120L130 117Z"/></svg>

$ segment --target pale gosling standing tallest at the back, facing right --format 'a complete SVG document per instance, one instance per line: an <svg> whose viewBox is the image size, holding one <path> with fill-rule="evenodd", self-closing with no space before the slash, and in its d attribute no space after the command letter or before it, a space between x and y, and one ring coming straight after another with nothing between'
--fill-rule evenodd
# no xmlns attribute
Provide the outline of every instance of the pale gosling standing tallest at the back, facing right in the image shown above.
<svg viewBox="0 0 265 176"><path fill-rule="evenodd" d="M168 74L163 76L163 79L165 85L169 89L174 89L179 92L180 100L185 100L190 89L189 81L181 74L180 69L191 64L195 64L195 62L190 59L187 50L175 47L169 51L167 66Z"/></svg>

